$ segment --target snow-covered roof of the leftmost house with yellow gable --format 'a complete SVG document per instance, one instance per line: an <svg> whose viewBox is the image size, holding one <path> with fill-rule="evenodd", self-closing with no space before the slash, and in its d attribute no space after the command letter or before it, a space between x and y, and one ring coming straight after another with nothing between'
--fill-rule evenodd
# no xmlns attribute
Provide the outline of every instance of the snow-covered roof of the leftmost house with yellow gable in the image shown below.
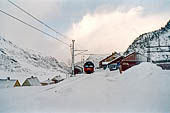
<svg viewBox="0 0 170 113"><path fill-rule="evenodd" d="M14 87L15 83L17 82L17 80L15 79L0 79L0 88L12 88Z"/></svg>

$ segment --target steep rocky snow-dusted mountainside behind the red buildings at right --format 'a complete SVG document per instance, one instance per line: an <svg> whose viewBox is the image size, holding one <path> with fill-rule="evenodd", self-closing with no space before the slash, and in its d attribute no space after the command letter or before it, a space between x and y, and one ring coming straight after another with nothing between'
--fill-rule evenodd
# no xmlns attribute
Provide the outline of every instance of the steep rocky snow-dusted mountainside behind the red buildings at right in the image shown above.
<svg viewBox="0 0 170 113"><path fill-rule="evenodd" d="M147 46L170 46L170 21L159 30L145 33L137 37L129 46L125 55L132 52L139 52L147 56ZM170 51L168 47L155 47L150 51ZM170 52L151 52L151 59L154 61L170 60Z"/></svg>

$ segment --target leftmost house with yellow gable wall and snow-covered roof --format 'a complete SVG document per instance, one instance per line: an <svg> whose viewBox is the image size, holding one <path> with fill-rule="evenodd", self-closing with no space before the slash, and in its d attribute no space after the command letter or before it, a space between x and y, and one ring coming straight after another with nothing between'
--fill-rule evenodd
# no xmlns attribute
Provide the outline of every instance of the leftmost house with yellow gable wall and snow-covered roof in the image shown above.
<svg viewBox="0 0 170 113"><path fill-rule="evenodd" d="M0 88L12 88L18 86L21 85L16 79L10 79L9 77L7 79L0 79Z"/></svg>

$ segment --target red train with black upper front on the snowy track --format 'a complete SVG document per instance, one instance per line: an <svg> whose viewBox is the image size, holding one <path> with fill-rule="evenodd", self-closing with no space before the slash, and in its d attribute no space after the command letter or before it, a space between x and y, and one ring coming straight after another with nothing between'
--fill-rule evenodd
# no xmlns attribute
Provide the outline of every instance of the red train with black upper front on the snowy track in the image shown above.
<svg viewBox="0 0 170 113"><path fill-rule="evenodd" d="M91 74L94 72L94 64L91 61L88 61L84 64L84 72L87 74Z"/></svg>

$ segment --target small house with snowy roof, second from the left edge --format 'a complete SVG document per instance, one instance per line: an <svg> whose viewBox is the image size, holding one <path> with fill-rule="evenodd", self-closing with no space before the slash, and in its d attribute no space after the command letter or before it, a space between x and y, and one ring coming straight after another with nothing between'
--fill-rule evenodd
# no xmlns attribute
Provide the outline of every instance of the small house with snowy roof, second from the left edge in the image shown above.
<svg viewBox="0 0 170 113"><path fill-rule="evenodd" d="M31 76L31 78L27 78L22 86L41 86L40 81L38 80L37 77Z"/></svg>

